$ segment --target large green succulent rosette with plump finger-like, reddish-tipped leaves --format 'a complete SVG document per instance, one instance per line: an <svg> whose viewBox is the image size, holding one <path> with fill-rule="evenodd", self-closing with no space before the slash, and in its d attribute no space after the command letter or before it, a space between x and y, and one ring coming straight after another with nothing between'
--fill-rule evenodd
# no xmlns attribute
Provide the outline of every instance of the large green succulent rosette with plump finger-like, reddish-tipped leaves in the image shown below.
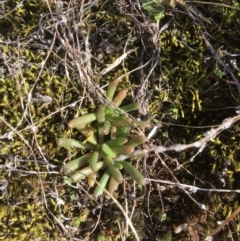
<svg viewBox="0 0 240 241"><path fill-rule="evenodd" d="M127 113L137 110L138 103L131 103L120 107L126 97L126 91L121 90L115 97L119 81L114 80L108 86L106 96L110 104L100 104L95 113L89 113L71 120L69 128L76 128L86 140L84 142L59 138L57 143L61 147L72 147L85 150L86 154L71 160L61 167L61 173L69 176L69 182L75 183L88 178L88 185L96 183L99 170L104 170L93 197L102 195L108 184L108 191L113 193L123 181L121 169L124 169L139 184L145 185L145 178L131 163L119 161L121 154L135 157L133 154L137 146L146 141L144 135L133 135L134 128L144 128L147 122L129 118ZM112 101L112 102L111 102ZM95 129L94 129L95 127ZM143 154L140 155L144 155Z"/></svg>

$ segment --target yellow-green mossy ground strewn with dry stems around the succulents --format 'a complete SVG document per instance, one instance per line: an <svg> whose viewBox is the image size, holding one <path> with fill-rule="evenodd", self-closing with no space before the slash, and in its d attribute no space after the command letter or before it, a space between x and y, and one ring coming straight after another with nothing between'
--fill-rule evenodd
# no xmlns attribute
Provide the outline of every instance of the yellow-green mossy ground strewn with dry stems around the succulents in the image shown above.
<svg viewBox="0 0 240 241"><path fill-rule="evenodd" d="M239 240L239 16L227 0L2 1L0 239ZM125 172L98 201L60 173L83 153L56 140L113 80L151 123L141 199Z"/></svg>

